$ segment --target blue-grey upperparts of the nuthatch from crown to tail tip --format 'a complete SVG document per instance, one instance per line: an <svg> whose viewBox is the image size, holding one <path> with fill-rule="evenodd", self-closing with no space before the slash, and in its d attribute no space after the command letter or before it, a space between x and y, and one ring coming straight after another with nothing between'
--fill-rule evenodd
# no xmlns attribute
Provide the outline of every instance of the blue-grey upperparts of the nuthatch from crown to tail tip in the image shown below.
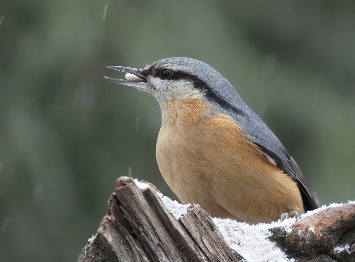
<svg viewBox="0 0 355 262"><path fill-rule="evenodd" d="M147 70L154 68L173 68L180 72L181 77L188 77L191 81L195 81L197 87L205 89L215 110L234 118L250 137L251 142L255 143L264 154L274 159L276 165L294 179L300 189L305 209L308 211L319 207L316 193L307 184L294 159L268 126L217 70L192 58L159 60L147 67Z"/></svg>

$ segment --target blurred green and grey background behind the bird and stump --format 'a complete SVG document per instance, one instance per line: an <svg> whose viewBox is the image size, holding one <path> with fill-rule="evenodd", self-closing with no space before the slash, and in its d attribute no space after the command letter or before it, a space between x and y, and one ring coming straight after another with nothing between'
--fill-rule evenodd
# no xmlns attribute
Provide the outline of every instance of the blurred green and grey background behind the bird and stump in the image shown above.
<svg viewBox="0 0 355 262"><path fill-rule="evenodd" d="M0 261L75 261L121 175L176 199L158 103L105 65L207 62L322 204L355 200L354 1L2 0L1 19Z"/></svg>

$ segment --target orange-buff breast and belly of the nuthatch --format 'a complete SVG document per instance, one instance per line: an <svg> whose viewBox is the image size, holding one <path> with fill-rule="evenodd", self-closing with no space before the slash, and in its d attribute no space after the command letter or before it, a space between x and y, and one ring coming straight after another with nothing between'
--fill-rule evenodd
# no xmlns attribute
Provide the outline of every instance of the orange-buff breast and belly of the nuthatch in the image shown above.
<svg viewBox="0 0 355 262"><path fill-rule="evenodd" d="M157 161L182 203L197 203L213 217L271 222L304 213L290 176L247 141L235 120L214 114L199 94L162 107Z"/></svg>

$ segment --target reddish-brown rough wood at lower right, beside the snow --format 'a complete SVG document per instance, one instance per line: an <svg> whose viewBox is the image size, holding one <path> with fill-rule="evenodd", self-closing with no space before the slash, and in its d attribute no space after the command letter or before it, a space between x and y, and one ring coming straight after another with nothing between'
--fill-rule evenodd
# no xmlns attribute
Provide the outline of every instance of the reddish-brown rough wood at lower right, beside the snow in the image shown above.
<svg viewBox="0 0 355 262"><path fill-rule="evenodd" d="M355 261L355 204L324 209L296 221L291 229L291 233L282 228L271 230L271 239L276 240L291 257L317 261L322 254L322 261ZM344 245L349 249L340 253L334 251L336 246Z"/></svg>

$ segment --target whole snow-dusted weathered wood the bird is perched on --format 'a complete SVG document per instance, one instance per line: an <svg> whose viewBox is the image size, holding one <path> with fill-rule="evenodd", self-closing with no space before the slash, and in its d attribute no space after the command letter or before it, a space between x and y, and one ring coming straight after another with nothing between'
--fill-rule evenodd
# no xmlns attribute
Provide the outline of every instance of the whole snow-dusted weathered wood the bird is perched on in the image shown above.
<svg viewBox="0 0 355 262"><path fill-rule="evenodd" d="M121 177L77 261L355 261L355 202L270 224L211 218Z"/></svg>

